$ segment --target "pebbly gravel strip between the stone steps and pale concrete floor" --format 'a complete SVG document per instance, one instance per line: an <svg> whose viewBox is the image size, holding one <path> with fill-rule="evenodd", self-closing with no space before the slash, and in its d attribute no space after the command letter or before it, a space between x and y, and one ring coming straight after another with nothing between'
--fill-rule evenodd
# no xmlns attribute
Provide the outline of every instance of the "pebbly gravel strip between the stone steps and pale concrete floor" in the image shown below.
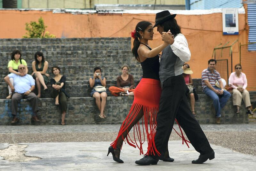
<svg viewBox="0 0 256 171"><path fill-rule="evenodd" d="M211 144L256 156L256 123L201 127ZM120 125L0 126L0 143L113 141L119 128ZM179 130L177 125L174 128ZM170 140L181 139L173 131Z"/></svg>

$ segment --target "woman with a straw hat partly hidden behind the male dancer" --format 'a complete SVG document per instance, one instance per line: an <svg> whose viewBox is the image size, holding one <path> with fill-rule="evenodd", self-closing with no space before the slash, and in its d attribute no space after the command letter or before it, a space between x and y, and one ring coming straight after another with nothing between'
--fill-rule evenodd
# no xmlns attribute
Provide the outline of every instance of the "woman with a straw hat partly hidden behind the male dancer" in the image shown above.
<svg viewBox="0 0 256 171"><path fill-rule="evenodd" d="M183 77L184 77L186 85L188 87L188 92L186 92L186 95L190 99L192 114L194 116L196 116L196 113L195 113L195 96L194 96L194 93L193 93L194 86L193 86L193 81L192 81L192 77L191 77L191 74L193 74L193 71L190 69L190 66L188 64L183 64L182 69L184 71Z"/></svg>

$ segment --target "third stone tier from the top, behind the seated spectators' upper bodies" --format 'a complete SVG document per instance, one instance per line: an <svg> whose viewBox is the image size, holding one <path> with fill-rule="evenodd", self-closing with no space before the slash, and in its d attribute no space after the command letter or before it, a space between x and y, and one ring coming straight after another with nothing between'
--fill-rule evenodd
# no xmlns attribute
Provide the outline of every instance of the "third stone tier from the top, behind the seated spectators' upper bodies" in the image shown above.
<svg viewBox="0 0 256 171"><path fill-rule="evenodd" d="M95 65L98 66L98 65ZM74 65L74 66L59 66L62 75L66 75L67 81L73 80L89 80L93 75L93 68L91 65ZM121 73L121 67L123 65L104 65L100 67L102 69L102 76L106 77L107 80L115 80L116 77ZM129 65L129 74L132 74L135 80L139 80L142 75L142 69L140 64ZM50 78L53 77L52 66L48 67L47 73L50 74ZM6 66L0 66L0 82L4 82L4 77L9 74ZM32 67L28 66L28 74L32 74Z"/></svg>

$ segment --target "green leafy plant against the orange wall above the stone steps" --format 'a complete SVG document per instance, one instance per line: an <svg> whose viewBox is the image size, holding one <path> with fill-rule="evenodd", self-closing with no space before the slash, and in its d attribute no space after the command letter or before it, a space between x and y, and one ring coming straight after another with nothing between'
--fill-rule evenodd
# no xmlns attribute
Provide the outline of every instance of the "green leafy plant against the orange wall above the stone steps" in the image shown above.
<svg viewBox="0 0 256 171"><path fill-rule="evenodd" d="M42 17L38 19L38 23L36 21L31 21L30 23L26 23L27 30L26 35L22 36L23 38L55 38L55 35L51 35L48 31L45 31L47 26L44 25L44 20Z"/></svg>

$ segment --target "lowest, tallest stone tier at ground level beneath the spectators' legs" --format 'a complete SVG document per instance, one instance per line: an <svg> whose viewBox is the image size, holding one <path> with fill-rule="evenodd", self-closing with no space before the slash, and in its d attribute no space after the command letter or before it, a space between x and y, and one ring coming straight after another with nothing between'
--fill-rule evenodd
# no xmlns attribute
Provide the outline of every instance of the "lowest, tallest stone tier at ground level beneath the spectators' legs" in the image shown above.
<svg viewBox="0 0 256 171"><path fill-rule="evenodd" d="M232 99L232 97L231 97ZM71 97L68 99L68 109L66 114L66 124L120 124L130 111L133 97L107 97L105 107L106 119L100 119L99 110L93 97ZM38 100L38 117L43 125L60 124L60 110L54 105L54 99L41 98ZM248 123L246 109L242 102L241 113L235 113L235 107L232 100L228 100L226 106L222 109L221 124L223 123ZM213 113L212 100L204 94L199 95L196 101L195 111L196 119L199 123L215 123L215 114ZM31 107L29 102L21 100L19 105L20 124L31 124ZM11 122L11 100L0 99L0 125L9 125Z"/></svg>

